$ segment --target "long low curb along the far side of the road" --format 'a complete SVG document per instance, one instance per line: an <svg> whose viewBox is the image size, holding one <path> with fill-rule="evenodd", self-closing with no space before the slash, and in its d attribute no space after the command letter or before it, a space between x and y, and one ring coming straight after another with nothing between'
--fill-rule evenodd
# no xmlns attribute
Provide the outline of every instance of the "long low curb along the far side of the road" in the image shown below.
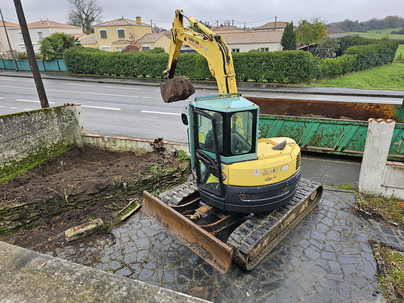
<svg viewBox="0 0 404 303"><path fill-rule="evenodd" d="M32 76L19 76L19 75L3 75L4 77L16 77L16 78L34 78ZM156 84L151 83L124 83L118 81L99 81L99 80L88 80L88 79L73 79L73 78L56 78L56 77L42 77L46 80L62 80L62 81L76 81L76 82L90 82L90 83L109 83L109 84L120 84L120 85L134 85L134 86L153 86L160 87ZM192 81L191 81L192 82ZM158 82L160 83L160 82ZM204 90L217 90L217 88L200 86L198 84L194 85L196 89ZM404 98L404 92L402 95L394 94L381 94L381 93L341 93L341 92L321 92L321 91L304 91L304 90L273 90L273 89L250 89L250 88L238 88L239 92L246 93L287 93L287 94L301 94L301 95L331 95L331 96L361 96L361 97L380 97L380 98Z"/></svg>

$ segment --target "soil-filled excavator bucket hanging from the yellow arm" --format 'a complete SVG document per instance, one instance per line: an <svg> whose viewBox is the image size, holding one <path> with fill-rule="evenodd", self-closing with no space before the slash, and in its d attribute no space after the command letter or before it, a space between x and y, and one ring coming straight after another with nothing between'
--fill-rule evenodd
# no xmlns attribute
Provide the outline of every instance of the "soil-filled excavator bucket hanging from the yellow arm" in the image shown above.
<svg viewBox="0 0 404 303"><path fill-rule="evenodd" d="M187 100L195 93L195 87L184 76L177 76L160 84L161 96L165 103Z"/></svg>

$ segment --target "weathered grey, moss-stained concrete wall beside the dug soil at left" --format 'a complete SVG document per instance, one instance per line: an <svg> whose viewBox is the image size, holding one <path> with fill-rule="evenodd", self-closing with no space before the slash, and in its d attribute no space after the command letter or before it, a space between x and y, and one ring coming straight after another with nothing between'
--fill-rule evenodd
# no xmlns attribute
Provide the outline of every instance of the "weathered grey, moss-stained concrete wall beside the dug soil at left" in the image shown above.
<svg viewBox="0 0 404 303"><path fill-rule="evenodd" d="M62 105L0 116L0 181L83 145L80 105Z"/></svg>

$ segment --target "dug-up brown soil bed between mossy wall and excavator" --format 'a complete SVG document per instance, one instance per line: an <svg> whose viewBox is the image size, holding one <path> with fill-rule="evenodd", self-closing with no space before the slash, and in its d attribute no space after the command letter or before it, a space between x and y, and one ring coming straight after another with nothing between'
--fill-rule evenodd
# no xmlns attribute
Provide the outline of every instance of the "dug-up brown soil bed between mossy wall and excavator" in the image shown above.
<svg viewBox="0 0 404 303"><path fill-rule="evenodd" d="M90 147L74 148L51 158L40 167L31 169L29 173L0 184L0 210L24 203L31 205L32 201L41 203L49 198L70 200L69 196L74 196L77 192L94 193L103 188L111 188L111 185L119 187L123 194L115 201L101 199L88 203L85 207L70 206L67 211L50 218L41 212L42 216L39 215L40 219L34 227L22 226L16 234L0 240L38 252L48 252L66 245L88 246L95 238L100 237L107 239L106 242L114 242L108 230L112 225L120 224L115 219L116 213L133 198L141 198L140 195L136 197L126 194L123 182L130 178L135 179L135 183L141 183L142 175L151 175L148 180L156 179L156 175L150 170L155 162L154 152L137 155L131 151L114 153ZM187 165L186 161L173 160L162 168L167 171L179 168L185 171L184 167ZM39 208L38 210L40 211ZM64 235L67 229L97 218L103 220L104 229L67 244Z"/></svg>

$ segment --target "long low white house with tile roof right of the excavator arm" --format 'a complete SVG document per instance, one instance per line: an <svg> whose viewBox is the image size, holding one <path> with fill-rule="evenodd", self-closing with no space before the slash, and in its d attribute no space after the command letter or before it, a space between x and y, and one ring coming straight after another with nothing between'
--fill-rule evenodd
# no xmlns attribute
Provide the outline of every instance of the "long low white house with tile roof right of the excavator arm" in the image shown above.
<svg viewBox="0 0 404 303"><path fill-rule="evenodd" d="M232 52L244 53L252 49L259 49L265 52L281 50L280 40L282 30L272 31L251 31L251 32L229 32L221 33L223 40Z"/></svg>

